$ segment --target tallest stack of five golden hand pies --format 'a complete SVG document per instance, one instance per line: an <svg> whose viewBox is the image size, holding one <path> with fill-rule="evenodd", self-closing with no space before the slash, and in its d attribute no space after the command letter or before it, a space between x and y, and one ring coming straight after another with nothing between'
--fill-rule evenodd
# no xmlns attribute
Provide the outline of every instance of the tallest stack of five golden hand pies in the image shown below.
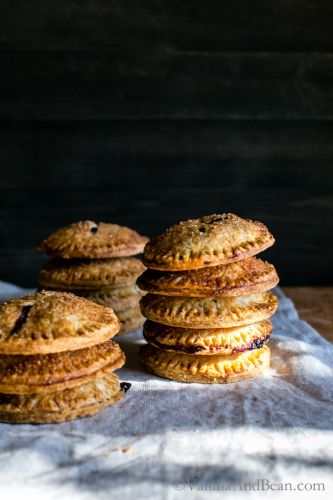
<svg viewBox="0 0 333 500"><path fill-rule="evenodd" d="M180 222L150 240L138 279L147 318L145 368L181 382L227 383L254 377L270 363L266 345L278 299L271 264L254 255L273 236L233 214Z"/></svg>

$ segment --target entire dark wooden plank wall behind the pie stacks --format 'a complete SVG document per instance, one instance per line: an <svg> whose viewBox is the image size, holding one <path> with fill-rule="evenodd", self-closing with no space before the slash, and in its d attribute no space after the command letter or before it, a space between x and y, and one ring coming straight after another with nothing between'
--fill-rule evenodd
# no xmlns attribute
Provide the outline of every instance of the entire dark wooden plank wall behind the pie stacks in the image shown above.
<svg viewBox="0 0 333 500"><path fill-rule="evenodd" d="M332 284L333 3L0 2L0 279L83 218L267 223L283 284Z"/></svg>

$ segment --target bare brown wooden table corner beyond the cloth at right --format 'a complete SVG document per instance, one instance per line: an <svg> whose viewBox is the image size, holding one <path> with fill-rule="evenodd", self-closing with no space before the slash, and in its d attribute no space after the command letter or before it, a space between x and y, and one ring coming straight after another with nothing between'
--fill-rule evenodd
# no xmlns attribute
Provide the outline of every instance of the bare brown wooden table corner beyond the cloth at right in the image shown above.
<svg viewBox="0 0 333 500"><path fill-rule="evenodd" d="M284 287L301 319L333 342L333 287Z"/></svg>

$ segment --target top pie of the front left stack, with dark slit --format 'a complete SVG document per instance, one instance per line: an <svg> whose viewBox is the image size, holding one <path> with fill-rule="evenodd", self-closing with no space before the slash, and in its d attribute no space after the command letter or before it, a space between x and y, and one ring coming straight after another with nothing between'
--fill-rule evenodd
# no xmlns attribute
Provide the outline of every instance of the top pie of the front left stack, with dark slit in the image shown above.
<svg viewBox="0 0 333 500"><path fill-rule="evenodd" d="M104 342L120 328L110 308L66 292L36 292L0 304L0 354L42 354Z"/></svg>

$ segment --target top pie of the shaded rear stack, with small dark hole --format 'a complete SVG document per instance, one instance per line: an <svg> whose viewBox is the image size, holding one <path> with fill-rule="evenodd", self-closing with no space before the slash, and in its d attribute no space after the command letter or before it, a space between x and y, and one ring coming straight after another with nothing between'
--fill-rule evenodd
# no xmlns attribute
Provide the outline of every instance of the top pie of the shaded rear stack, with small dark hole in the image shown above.
<svg viewBox="0 0 333 500"><path fill-rule="evenodd" d="M147 241L128 227L86 220L58 229L38 250L63 259L108 259L142 253Z"/></svg>

